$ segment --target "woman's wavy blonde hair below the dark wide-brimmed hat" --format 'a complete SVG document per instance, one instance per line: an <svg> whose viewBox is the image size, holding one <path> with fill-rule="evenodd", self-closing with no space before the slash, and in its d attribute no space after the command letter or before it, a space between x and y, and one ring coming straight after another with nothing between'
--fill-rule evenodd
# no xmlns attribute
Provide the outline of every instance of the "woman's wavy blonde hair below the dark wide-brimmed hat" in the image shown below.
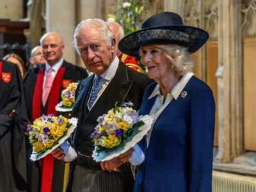
<svg viewBox="0 0 256 192"><path fill-rule="evenodd" d="M164 51L164 56L172 62L173 70L179 76L193 72L195 61L190 57L188 48L174 44L152 44Z"/></svg>

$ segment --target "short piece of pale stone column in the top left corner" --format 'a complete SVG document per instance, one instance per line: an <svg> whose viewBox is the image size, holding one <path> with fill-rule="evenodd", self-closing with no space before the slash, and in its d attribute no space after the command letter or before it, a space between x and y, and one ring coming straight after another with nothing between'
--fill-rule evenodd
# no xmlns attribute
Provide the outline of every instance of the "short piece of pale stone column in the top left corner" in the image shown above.
<svg viewBox="0 0 256 192"><path fill-rule="evenodd" d="M23 18L23 1L1 0L0 18L18 20Z"/></svg>

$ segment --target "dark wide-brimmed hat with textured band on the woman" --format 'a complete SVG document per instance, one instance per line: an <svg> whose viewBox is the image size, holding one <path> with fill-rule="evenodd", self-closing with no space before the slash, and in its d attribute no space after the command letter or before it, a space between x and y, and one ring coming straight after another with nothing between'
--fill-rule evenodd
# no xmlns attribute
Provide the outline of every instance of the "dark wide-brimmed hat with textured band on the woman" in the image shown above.
<svg viewBox="0 0 256 192"><path fill-rule="evenodd" d="M184 26L177 13L162 12L145 20L141 30L122 38L118 49L130 56L139 56L141 45L175 44L188 47L191 54L198 51L208 38L209 34L203 29Z"/></svg>

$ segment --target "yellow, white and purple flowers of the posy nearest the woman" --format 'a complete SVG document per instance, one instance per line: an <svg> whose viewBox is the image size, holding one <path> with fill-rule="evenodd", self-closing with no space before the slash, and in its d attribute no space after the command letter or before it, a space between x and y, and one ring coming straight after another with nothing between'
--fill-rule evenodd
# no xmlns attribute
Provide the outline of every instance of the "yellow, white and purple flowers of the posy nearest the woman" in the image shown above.
<svg viewBox="0 0 256 192"><path fill-rule="evenodd" d="M129 107L115 107L99 116L99 124L91 134L97 152L107 151L124 143L137 127L144 125L136 111Z"/></svg>

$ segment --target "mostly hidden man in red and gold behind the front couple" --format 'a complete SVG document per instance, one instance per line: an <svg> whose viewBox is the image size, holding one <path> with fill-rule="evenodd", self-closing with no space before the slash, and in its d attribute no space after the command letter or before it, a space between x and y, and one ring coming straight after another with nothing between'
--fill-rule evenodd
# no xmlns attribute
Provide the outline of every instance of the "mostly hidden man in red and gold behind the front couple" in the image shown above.
<svg viewBox="0 0 256 192"><path fill-rule="evenodd" d="M136 58L134 58L133 56L124 54L118 49L118 44L120 40L124 37L124 29L122 28L122 26L120 26L120 24L116 22L107 22L107 23L108 23L109 29L111 29L113 36L116 40L116 56L118 56L119 60L121 60L128 67L138 72L143 72Z"/></svg>

